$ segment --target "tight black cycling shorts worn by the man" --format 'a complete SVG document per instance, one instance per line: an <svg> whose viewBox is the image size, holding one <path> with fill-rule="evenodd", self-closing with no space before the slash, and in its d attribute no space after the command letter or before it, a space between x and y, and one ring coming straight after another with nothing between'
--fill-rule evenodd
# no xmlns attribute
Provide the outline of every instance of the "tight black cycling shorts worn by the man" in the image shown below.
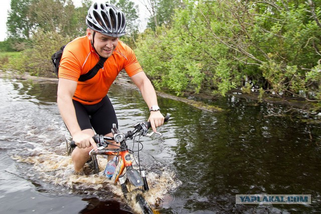
<svg viewBox="0 0 321 214"><path fill-rule="evenodd" d="M73 100L78 124L81 130L94 129L97 134L108 134L111 132L112 124L117 123L117 117L108 96L94 105L84 105Z"/></svg>

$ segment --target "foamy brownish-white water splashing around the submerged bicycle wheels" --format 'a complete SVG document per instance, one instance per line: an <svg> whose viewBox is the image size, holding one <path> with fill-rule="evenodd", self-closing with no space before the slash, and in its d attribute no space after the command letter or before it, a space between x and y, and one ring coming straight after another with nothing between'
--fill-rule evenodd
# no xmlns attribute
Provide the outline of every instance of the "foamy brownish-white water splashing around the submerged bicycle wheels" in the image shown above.
<svg viewBox="0 0 321 214"><path fill-rule="evenodd" d="M33 147L32 145L35 144L30 143L30 145L30 147ZM61 143L59 148L65 149L65 145L65 142ZM39 147L24 149L19 154L12 154L11 157L18 162L28 163L32 166L33 174L26 174L30 179L36 179L37 177L37 179L43 182L59 185L61 188L74 193L82 192L87 196L95 195L101 200L124 200L120 185L114 185L110 179L102 175L104 166L107 163L107 158L102 155L97 155L100 168L99 174L91 174L92 171L88 165L84 167L83 172L76 173L73 168L71 156L46 151ZM143 159L147 158L148 157L144 157ZM153 161L153 164L155 164L154 159ZM133 162L133 165L134 168L137 169L135 162ZM148 168L146 171L146 179L149 181L149 190L144 192L143 196L153 207L161 204L163 196L181 184L175 172L161 163L157 163L156 165L148 164L148 166L142 164L141 167L145 169ZM156 170L153 170L153 168ZM135 188L129 184L127 185L128 190ZM129 206L137 213L141 211L140 206L135 201L135 196L138 192L140 191L132 191L126 197Z"/></svg>

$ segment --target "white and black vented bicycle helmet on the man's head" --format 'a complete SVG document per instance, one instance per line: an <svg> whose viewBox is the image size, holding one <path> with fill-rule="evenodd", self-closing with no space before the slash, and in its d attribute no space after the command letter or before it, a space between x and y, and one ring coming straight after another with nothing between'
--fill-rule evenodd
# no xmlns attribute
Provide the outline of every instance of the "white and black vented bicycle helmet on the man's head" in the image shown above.
<svg viewBox="0 0 321 214"><path fill-rule="evenodd" d="M109 3L93 3L88 10L86 24L91 30L110 37L126 34L124 13Z"/></svg>

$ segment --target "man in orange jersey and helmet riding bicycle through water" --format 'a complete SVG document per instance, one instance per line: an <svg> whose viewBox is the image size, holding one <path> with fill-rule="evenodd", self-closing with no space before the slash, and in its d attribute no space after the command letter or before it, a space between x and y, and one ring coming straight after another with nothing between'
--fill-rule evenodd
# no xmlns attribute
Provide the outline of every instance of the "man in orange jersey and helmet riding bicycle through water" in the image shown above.
<svg viewBox="0 0 321 214"><path fill-rule="evenodd" d="M153 131L164 123L155 90L139 65L134 52L118 38L125 34L125 16L111 4L93 3L86 17L87 34L68 43L60 67L57 104L75 144L72 161L76 171L90 159L89 151L97 150L94 131L112 136L117 124L107 92L119 72L124 69L140 90L150 109L148 121ZM107 58L98 73L86 81L78 81L100 60ZM115 148L109 145L108 148ZM112 157L108 157L110 159Z"/></svg>

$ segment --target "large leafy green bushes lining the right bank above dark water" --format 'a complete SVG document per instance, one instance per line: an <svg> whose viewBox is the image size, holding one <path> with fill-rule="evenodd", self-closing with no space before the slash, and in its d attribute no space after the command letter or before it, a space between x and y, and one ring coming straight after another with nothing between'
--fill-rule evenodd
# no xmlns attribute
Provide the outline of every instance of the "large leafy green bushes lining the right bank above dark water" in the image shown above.
<svg viewBox="0 0 321 214"><path fill-rule="evenodd" d="M156 88L224 96L254 87L321 101L321 0L183 3L171 27L146 30L136 43Z"/></svg>

